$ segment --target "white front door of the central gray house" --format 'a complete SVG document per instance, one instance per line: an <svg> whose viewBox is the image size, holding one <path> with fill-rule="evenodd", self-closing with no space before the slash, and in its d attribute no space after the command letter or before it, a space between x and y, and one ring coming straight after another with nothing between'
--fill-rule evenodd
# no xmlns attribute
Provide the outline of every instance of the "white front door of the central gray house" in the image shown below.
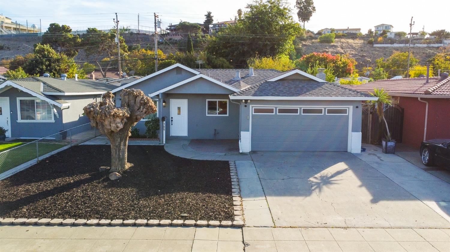
<svg viewBox="0 0 450 252"><path fill-rule="evenodd" d="M187 99L170 99L170 135L188 136Z"/></svg>

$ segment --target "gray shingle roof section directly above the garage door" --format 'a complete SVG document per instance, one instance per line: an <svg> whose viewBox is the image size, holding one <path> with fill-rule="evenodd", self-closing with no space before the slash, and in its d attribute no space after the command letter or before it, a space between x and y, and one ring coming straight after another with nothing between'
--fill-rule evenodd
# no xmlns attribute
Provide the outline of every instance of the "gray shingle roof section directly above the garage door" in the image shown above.
<svg viewBox="0 0 450 252"><path fill-rule="evenodd" d="M232 96L275 96L275 97L371 97L345 86L318 82L315 80L264 81L245 88Z"/></svg>

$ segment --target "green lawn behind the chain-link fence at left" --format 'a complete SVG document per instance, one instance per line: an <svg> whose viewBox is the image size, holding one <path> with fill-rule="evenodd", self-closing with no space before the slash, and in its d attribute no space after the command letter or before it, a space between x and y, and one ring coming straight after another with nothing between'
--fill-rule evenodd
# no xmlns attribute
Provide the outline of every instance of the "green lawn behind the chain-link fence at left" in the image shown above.
<svg viewBox="0 0 450 252"><path fill-rule="evenodd" d="M7 152L0 153L0 173L6 172L9 169L12 169L18 165L23 163L27 163L32 159L36 159L36 143L27 144L24 142L15 142L9 143L12 146L4 147L6 144L0 145L0 147L6 148L14 148L16 146L21 146L14 150L9 150ZM14 146L14 144L16 144ZM58 150L64 146L67 146L69 143L66 141L61 142L47 142L47 143L39 143L39 156L45 155L51 151ZM2 150L4 151L4 150Z"/></svg>

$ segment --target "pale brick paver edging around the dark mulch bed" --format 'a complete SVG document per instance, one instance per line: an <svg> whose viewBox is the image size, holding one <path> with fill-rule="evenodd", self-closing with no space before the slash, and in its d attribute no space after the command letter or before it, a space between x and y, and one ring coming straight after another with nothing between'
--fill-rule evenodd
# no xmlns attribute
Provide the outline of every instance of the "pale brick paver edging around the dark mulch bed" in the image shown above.
<svg viewBox="0 0 450 252"><path fill-rule="evenodd" d="M234 161L229 161L231 187L233 195L234 221L194 221L194 220L85 220L85 219L50 219L50 218L0 218L1 225L90 225L90 226L213 226L243 227L242 198L239 190L238 174Z"/></svg>

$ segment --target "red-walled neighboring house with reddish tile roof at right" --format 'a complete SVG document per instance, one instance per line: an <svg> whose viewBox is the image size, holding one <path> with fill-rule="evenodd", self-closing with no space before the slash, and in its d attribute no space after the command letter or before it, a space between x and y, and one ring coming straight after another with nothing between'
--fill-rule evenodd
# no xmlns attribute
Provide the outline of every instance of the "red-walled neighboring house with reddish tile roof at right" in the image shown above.
<svg viewBox="0 0 450 252"><path fill-rule="evenodd" d="M386 90L404 108L403 140L406 145L420 147L421 141L450 138L450 77L377 80L349 88L373 92ZM427 120L425 121L425 118Z"/></svg>

